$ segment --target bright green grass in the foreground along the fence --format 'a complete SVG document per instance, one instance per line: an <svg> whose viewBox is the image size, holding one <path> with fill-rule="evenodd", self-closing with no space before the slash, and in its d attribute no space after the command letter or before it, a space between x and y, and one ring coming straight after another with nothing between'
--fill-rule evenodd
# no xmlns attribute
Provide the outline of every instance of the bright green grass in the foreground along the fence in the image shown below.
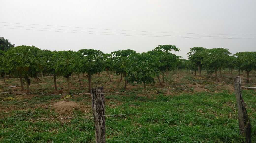
<svg viewBox="0 0 256 143"><path fill-rule="evenodd" d="M254 91L246 90L242 94L247 105L256 104ZM55 98L50 97L46 96L44 100ZM118 106L112 108L115 104ZM256 105L247 108L252 126L256 125L255 107ZM169 112L151 113L159 111ZM236 98L234 94L225 91L184 93L178 96L160 94L155 96L155 99L136 96L132 92L123 96L106 95L107 115L133 113L145 114L106 117L107 142L238 142L241 140ZM72 119L0 120L0 141L94 142L94 121L91 117L87 117L91 115L74 110ZM62 117L62 115L50 109L37 108L15 111L6 119L52 117ZM252 140L256 139L255 129L256 127L252 127Z"/></svg>

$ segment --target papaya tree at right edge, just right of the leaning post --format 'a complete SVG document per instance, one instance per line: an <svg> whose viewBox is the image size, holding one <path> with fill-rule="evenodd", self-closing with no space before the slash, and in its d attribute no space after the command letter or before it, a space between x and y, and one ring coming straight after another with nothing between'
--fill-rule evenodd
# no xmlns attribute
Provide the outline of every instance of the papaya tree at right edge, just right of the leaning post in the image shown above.
<svg viewBox="0 0 256 143"><path fill-rule="evenodd" d="M256 52L238 52L234 54L239 64L239 69L247 72L247 83L249 83L249 72L256 68Z"/></svg>

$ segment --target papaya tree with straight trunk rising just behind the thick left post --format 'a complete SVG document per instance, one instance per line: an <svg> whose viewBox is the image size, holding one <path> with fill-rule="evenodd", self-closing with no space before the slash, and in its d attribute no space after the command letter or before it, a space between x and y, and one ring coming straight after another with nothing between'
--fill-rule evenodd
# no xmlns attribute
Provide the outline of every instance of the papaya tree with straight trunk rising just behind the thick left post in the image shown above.
<svg viewBox="0 0 256 143"><path fill-rule="evenodd" d="M101 72L103 69L103 65L101 63L103 52L94 49L81 49L78 50L78 53L80 54L81 63L84 67L84 71L82 72L88 73L88 91L90 92L92 75Z"/></svg>

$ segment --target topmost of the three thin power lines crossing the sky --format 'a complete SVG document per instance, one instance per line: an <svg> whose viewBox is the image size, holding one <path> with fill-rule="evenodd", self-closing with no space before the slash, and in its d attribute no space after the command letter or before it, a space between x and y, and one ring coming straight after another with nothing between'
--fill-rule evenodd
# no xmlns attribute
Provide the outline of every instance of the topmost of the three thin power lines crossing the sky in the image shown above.
<svg viewBox="0 0 256 143"><path fill-rule="evenodd" d="M69 28L84 28L84 29L98 29L98 30L132 31L132 32L177 33L177 34L209 34L209 35L248 35L248 36L256 36L256 35L250 35L250 34L212 34L212 33L157 32L157 31L117 30L117 29L102 29L102 28L87 28L87 27L71 27L71 26L57 26L57 25L43 25L43 24L28 24L28 23L14 23L14 22L1 22L1 23L27 24L27 25L40 25L40 26L55 26L55 27L69 27Z"/></svg>

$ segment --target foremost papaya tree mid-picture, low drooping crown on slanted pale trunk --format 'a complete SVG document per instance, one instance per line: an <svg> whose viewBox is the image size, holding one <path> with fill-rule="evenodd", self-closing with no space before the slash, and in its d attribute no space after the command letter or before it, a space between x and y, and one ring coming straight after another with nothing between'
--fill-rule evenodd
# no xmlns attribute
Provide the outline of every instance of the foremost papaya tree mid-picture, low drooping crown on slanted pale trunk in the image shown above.
<svg viewBox="0 0 256 143"><path fill-rule="evenodd" d="M148 53L136 53L129 56L130 67L126 68L126 73L129 76L125 77L128 82L136 81L143 83L145 93L148 98L146 84L154 82L154 76L158 68L155 66L156 58Z"/></svg>

